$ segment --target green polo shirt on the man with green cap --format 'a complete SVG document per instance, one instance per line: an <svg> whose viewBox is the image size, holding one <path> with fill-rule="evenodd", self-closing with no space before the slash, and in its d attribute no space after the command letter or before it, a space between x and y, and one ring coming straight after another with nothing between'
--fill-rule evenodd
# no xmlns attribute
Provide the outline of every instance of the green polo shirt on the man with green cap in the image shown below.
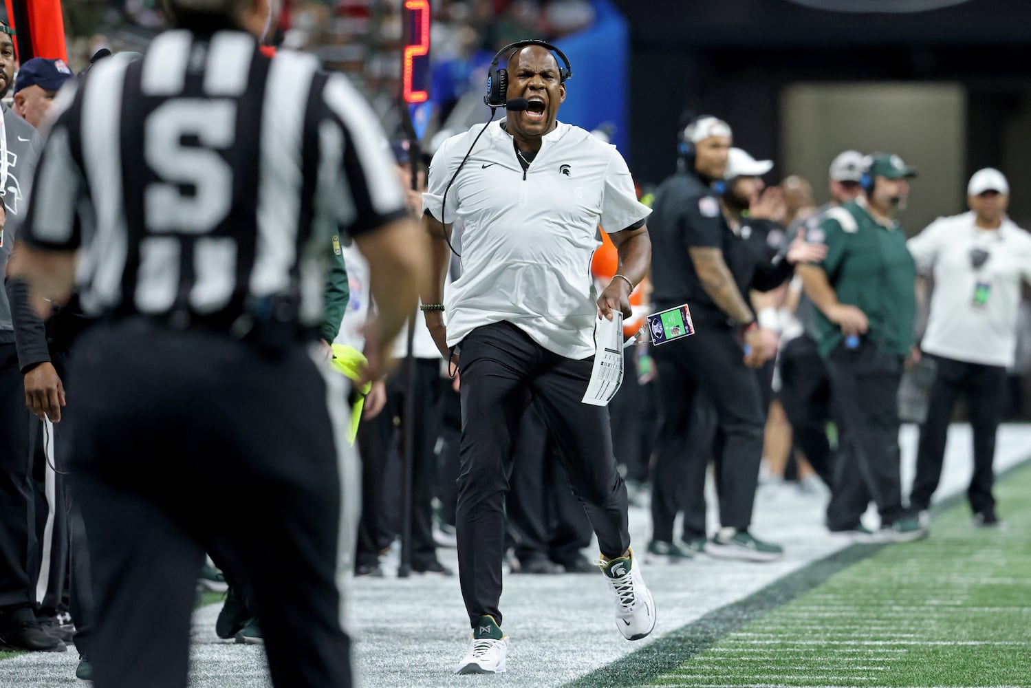
<svg viewBox="0 0 1031 688"><path fill-rule="evenodd" d="M810 241L827 244L820 267L841 303L858 306L869 322L864 335L884 351L907 356L913 345L917 267L898 224L886 227L866 210L865 200L831 208ZM825 358L841 342L841 329L817 313L820 354Z"/></svg>

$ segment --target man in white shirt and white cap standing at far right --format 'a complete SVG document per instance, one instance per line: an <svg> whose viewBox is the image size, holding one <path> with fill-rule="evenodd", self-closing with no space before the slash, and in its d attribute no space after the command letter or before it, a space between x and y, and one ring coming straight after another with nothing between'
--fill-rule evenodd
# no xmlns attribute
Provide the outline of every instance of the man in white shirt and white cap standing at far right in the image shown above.
<svg viewBox="0 0 1031 688"><path fill-rule="evenodd" d="M967 399L973 430L973 477L967 490L977 525L998 525L992 485L995 432L1002 417L1006 368L1017 349L1021 283L1031 282L1031 235L1006 217L1009 184L986 168L967 186L969 212L939 218L908 241L934 294L921 343L937 361L927 422L920 429L917 479L909 502L923 512L941 478L945 435L956 399Z"/></svg>

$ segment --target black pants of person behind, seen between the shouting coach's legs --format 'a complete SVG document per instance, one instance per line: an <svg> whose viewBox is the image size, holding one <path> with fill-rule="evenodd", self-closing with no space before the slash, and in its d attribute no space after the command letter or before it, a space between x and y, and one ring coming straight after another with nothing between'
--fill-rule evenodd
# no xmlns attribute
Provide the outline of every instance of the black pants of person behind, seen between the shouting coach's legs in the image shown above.
<svg viewBox="0 0 1031 688"><path fill-rule="evenodd" d="M591 522L569 488L558 449L547 441L544 422L532 407L523 416L512 464L506 504L516 556L524 564L534 559L572 563L591 544Z"/></svg>

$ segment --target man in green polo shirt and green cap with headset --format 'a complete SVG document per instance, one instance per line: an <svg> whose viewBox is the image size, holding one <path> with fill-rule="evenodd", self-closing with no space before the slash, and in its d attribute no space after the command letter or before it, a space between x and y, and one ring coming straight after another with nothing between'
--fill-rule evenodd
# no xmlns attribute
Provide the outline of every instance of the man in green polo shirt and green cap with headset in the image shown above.
<svg viewBox="0 0 1031 688"><path fill-rule="evenodd" d="M827 244L820 263L798 266L816 304L820 354L838 415L839 456L827 527L862 539L905 542L927 535L902 503L898 387L913 347L917 270L895 221L913 168L896 155L864 160L865 196L831 208L807 233ZM880 514L873 533L860 522L870 500Z"/></svg>

